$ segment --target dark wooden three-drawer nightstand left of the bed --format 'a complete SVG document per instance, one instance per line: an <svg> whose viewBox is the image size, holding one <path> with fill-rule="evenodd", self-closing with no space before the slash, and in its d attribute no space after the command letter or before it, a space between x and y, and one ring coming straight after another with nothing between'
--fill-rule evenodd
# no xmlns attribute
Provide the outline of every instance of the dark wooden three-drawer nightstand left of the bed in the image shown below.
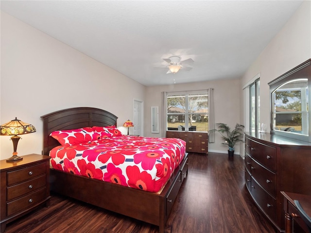
<svg viewBox="0 0 311 233"><path fill-rule="evenodd" d="M6 224L35 207L50 205L50 157L40 154L21 156L16 162L0 160L0 231Z"/></svg>

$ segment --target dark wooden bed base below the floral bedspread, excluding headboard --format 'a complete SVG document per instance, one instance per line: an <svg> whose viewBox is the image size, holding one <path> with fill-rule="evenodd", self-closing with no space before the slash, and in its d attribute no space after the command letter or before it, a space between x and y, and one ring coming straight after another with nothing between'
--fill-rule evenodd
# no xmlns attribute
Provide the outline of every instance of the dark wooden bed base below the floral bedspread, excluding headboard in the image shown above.
<svg viewBox="0 0 311 233"><path fill-rule="evenodd" d="M186 154L160 194L89 179L52 168L50 187L53 192L159 226L160 233L163 233L173 203L187 174Z"/></svg>

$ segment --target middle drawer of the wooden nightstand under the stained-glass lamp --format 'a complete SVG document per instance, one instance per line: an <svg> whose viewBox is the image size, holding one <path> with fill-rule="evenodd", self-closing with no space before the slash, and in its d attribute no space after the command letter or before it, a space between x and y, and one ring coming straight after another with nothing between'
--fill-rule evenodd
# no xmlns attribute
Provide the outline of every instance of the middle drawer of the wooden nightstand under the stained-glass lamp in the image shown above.
<svg viewBox="0 0 311 233"><path fill-rule="evenodd" d="M24 183L19 183L19 184L10 186L7 188L6 199L12 200L12 199L18 198L27 193L33 192L34 190L40 187L45 186L46 183L47 183L47 177L46 177L46 174L44 174L30 181L26 181Z"/></svg>

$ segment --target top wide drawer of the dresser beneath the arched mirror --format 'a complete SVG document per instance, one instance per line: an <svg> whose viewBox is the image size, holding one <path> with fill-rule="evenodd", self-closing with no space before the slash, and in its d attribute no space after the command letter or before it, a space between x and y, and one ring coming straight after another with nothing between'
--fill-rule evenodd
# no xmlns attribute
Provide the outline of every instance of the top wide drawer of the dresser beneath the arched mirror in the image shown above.
<svg viewBox="0 0 311 233"><path fill-rule="evenodd" d="M252 141L251 146L250 155L263 166L272 171L276 171L276 148L256 141Z"/></svg>

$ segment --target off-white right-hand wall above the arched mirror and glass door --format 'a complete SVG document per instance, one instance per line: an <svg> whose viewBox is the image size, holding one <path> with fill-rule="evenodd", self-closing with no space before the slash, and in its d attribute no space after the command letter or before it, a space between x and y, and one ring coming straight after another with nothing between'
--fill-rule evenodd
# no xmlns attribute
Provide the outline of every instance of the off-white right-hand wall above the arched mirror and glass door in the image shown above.
<svg viewBox="0 0 311 233"><path fill-rule="evenodd" d="M267 131L270 131L268 83L310 58L311 1L304 1L242 77L243 86L260 73L260 122L266 123ZM246 124L242 112L241 116L241 122Z"/></svg>

